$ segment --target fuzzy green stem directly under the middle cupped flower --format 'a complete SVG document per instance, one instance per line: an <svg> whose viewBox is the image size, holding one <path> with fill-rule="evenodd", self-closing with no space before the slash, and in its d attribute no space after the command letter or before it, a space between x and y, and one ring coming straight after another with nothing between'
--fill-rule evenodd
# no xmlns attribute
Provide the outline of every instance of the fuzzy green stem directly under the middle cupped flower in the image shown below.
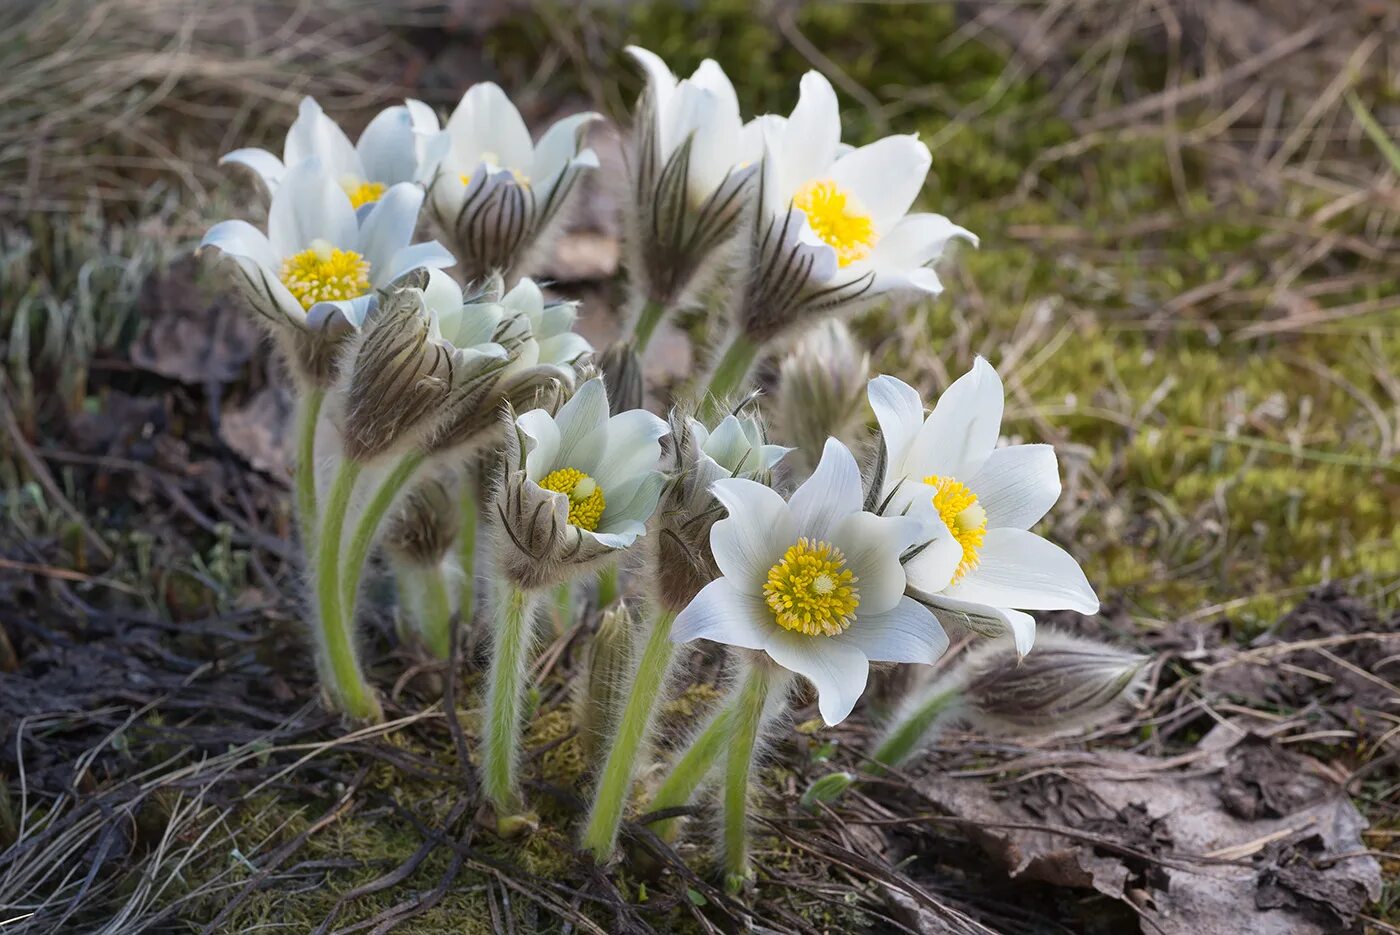
<svg viewBox="0 0 1400 935"><path fill-rule="evenodd" d="M529 649L535 638L536 596L512 584L505 589L491 647L491 666L486 687L486 736L482 739L482 785L496 806L498 819L519 806L515 767L519 759L521 707L525 677L529 673Z"/></svg>

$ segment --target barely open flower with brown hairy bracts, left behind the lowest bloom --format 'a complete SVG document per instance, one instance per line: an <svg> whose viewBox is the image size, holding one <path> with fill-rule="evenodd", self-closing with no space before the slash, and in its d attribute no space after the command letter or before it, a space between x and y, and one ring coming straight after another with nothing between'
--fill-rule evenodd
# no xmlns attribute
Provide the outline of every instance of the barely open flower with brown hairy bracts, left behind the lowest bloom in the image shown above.
<svg viewBox="0 0 1400 935"><path fill-rule="evenodd" d="M792 449L766 444L763 421L752 413L725 416L714 431L679 410L672 410L669 423L661 465L671 481L654 521L652 581L658 603L679 613L720 577L710 528L725 511L710 486L722 477L766 484L773 466Z"/></svg>

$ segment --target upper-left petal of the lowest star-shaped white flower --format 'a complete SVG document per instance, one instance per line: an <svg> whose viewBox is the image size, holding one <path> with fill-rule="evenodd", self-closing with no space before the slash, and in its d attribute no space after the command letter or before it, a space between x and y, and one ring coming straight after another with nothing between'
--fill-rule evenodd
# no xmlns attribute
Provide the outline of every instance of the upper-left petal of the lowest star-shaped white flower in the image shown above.
<svg viewBox="0 0 1400 935"><path fill-rule="evenodd" d="M714 563L735 588L759 593L769 568L797 542L791 511L776 490L743 477L717 480L710 491L729 511L710 528Z"/></svg>

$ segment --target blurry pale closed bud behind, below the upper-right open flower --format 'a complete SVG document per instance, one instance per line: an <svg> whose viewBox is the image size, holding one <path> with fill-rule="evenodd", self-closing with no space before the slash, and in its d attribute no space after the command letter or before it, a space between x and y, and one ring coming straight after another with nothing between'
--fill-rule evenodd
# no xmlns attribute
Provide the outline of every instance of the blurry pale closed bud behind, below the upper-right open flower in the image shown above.
<svg viewBox="0 0 1400 935"><path fill-rule="evenodd" d="M812 328L780 361L776 423L805 473L827 438L854 441L865 419L869 364L869 351L837 319Z"/></svg>

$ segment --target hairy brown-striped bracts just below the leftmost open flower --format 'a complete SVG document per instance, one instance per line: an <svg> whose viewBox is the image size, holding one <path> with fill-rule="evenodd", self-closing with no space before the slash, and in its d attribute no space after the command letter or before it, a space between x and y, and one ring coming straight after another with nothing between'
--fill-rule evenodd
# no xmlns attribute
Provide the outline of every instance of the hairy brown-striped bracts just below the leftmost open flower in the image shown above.
<svg viewBox="0 0 1400 935"><path fill-rule="evenodd" d="M346 350L337 403L351 461L421 444L455 414L489 399L505 370L508 353L501 344L455 347L437 333L427 286L426 270L412 273Z"/></svg>

